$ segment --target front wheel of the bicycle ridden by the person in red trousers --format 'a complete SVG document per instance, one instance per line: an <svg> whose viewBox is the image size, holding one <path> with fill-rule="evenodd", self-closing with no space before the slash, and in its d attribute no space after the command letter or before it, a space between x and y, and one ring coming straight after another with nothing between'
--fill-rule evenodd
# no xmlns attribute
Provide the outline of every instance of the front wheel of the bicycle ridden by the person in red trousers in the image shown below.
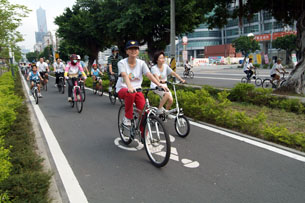
<svg viewBox="0 0 305 203"><path fill-rule="evenodd" d="M154 166L159 168L168 163L171 153L169 135L162 121L155 116L147 118L144 128L144 146Z"/></svg>

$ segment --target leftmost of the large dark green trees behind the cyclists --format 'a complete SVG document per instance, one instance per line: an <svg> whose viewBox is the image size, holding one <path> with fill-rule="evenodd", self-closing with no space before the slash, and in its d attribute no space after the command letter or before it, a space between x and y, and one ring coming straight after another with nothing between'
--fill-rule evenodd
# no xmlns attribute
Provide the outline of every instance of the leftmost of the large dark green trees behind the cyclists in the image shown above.
<svg viewBox="0 0 305 203"><path fill-rule="evenodd" d="M86 0L92 8L101 9L102 1ZM98 52L105 47L110 46L109 41L104 34L105 25L100 25L101 22L96 18L95 13L81 6L82 1L70 8L55 18L55 24L59 26L57 34L60 38L65 40L70 47L81 47L89 56L89 64L92 64L97 59ZM90 8L91 8L90 7ZM72 53L78 54L74 50Z"/></svg>

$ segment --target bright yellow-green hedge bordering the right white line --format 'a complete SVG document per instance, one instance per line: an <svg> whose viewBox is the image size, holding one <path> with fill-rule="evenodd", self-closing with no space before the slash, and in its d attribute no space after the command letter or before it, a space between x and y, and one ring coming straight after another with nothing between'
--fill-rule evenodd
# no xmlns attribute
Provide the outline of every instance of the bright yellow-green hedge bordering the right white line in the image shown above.
<svg viewBox="0 0 305 203"><path fill-rule="evenodd" d="M267 117L263 111L255 117L249 117L245 112L233 110L230 108L231 101L228 99L230 94L222 91L215 97L211 96L206 89L177 91L179 105L188 117L305 151L304 132L290 133L285 126L267 123ZM153 93L149 93L148 96L152 105L159 104L159 96Z"/></svg>

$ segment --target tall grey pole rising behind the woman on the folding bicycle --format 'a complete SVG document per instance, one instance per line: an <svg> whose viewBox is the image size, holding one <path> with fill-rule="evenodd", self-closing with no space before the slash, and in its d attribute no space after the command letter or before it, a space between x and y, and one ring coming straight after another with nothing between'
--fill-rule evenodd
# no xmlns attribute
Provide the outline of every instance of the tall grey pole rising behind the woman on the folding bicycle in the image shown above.
<svg viewBox="0 0 305 203"><path fill-rule="evenodd" d="M175 23L175 0L171 0L171 26L170 26L170 58L171 58L171 68L176 71L176 59L175 59L175 52L176 52L176 23Z"/></svg>

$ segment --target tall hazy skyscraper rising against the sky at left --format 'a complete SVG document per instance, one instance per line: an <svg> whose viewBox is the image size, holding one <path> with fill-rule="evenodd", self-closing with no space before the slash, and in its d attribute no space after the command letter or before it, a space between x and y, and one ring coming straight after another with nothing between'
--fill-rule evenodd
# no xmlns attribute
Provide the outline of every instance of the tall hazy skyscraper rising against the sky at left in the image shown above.
<svg viewBox="0 0 305 203"><path fill-rule="evenodd" d="M38 32L35 32L36 43L42 43L44 35L48 32L46 11L41 7L36 10Z"/></svg>

